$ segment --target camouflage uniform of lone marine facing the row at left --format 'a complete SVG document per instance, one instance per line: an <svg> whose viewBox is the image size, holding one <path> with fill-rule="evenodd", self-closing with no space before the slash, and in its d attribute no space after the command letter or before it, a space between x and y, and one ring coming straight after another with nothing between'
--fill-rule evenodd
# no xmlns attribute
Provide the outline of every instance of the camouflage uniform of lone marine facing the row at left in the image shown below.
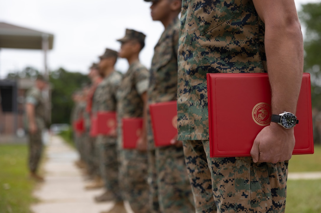
<svg viewBox="0 0 321 213"><path fill-rule="evenodd" d="M35 122L37 131L35 133L29 132L29 169L30 172L35 173L38 169L39 161L42 154L42 130L45 128L45 101L42 92L37 87L30 88L26 93L26 104L32 104L35 113ZM26 128L29 130L29 121L26 116Z"/></svg>

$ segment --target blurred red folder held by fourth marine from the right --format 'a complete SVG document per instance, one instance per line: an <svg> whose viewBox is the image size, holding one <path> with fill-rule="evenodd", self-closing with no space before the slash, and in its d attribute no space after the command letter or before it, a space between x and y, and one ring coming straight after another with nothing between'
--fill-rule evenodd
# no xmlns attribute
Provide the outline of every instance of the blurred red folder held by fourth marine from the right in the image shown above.
<svg viewBox="0 0 321 213"><path fill-rule="evenodd" d="M116 121L116 112L98 112L97 133L109 135L111 131L116 130Z"/></svg>

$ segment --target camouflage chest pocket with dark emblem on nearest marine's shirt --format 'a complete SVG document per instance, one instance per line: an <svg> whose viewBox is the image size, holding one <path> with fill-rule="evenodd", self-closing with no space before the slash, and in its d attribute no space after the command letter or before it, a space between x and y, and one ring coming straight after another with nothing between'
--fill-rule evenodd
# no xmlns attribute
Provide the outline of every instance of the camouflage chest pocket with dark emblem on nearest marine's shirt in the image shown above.
<svg viewBox="0 0 321 213"><path fill-rule="evenodd" d="M195 21L200 35L204 35L239 13L235 0L203 0L194 5Z"/></svg>

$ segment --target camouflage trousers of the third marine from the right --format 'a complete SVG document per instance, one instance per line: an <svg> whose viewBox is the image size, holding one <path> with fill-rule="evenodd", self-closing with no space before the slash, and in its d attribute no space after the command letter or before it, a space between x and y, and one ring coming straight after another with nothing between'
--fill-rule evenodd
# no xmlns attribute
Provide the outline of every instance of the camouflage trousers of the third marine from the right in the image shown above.
<svg viewBox="0 0 321 213"><path fill-rule="evenodd" d="M135 213L149 213L147 183L147 153L120 150L119 182L123 198Z"/></svg>

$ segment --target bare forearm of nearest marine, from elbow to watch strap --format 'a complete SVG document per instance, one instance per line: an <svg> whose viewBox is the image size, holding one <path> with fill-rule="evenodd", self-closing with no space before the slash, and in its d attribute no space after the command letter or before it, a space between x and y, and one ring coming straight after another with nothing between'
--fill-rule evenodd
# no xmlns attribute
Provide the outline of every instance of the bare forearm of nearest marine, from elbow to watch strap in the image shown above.
<svg viewBox="0 0 321 213"><path fill-rule="evenodd" d="M266 26L265 50L272 90L272 113L295 114L303 73L303 39L299 21Z"/></svg>

